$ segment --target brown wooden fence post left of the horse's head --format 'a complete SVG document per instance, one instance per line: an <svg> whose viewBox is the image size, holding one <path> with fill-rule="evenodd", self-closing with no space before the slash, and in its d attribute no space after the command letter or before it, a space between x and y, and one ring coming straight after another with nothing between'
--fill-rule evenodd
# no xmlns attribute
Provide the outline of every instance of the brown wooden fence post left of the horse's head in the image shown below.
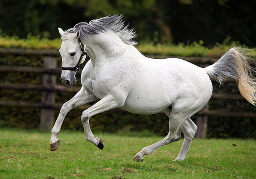
<svg viewBox="0 0 256 179"><path fill-rule="evenodd" d="M55 69L57 67L57 60L54 57L44 57L44 68ZM54 87L56 83L55 75L44 74L43 86ZM42 95L42 103L51 105L55 103L55 92L44 91ZM44 132L50 132L52 129L52 123L54 120L54 109L41 109L40 130Z"/></svg>

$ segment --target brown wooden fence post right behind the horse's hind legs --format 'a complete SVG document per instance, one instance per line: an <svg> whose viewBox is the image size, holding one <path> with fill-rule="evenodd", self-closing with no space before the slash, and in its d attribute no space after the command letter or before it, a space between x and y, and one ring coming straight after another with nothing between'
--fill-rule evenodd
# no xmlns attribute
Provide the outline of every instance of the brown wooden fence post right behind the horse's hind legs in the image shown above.
<svg viewBox="0 0 256 179"><path fill-rule="evenodd" d="M201 111L208 110L208 103L201 109ZM195 134L196 138L205 139L207 132L207 116L198 115L195 120L195 124L198 126L198 131Z"/></svg>

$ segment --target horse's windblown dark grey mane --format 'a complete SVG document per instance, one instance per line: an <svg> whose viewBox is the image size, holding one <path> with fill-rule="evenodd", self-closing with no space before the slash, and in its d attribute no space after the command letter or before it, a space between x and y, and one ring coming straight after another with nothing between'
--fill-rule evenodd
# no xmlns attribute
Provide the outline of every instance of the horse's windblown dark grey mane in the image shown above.
<svg viewBox="0 0 256 179"><path fill-rule="evenodd" d="M65 31L67 34L76 33L80 31L80 38L87 40L87 35L99 35L101 33L111 31L118 35L123 42L136 45L133 39L137 36L134 29L129 29L128 25L125 25L123 15L116 14L113 16L102 17L100 19L91 20L89 23L81 22L76 24L71 29Z"/></svg>

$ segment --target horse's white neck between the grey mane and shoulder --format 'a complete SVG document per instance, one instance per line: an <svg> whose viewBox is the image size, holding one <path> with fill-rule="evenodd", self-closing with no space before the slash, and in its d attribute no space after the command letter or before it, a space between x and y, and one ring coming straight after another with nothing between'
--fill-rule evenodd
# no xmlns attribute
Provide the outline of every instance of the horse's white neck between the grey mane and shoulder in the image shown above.
<svg viewBox="0 0 256 179"><path fill-rule="evenodd" d="M124 43L117 35L107 33L96 35L88 40L87 53L94 65L110 63L110 61L128 60L123 56L143 56L133 45Z"/></svg>

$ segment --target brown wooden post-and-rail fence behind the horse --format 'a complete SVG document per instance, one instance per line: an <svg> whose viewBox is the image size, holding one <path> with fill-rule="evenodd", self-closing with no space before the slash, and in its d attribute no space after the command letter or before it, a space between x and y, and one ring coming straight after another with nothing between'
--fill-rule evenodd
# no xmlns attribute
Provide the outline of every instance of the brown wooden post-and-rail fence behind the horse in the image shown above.
<svg viewBox="0 0 256 179"><path fill-rule="evenodd" d="M55 119L54 110L60 109L62 104L55 102L55 92L77 92L80 87L66 87L64 85L56 85L55 75L60 76L61 69L57 69L56 57L59 57L57 50L34 50L34 49L1 49L1 54L12 54L12 55L38 55L44 56L44 67L28 67L28 66L0 66L0 72L33 72L42 73L43 82L42 85L35 84L0 84L0 89L14 89L14 90L38 90L42 91L41 102L28 102L28 101L0 101L0 106L10 107L37 107L41 108L41 123L40 129L42 131L50 131L52 128L53 121ZM168 56L157 56L148 55L152 58L169 58ZM195 57L182 57L186 61L202 64L213 64L218 59L214 58L195 58ZM81 73L81 70L80 70ZM80 75L80 73L78 75ZM215 79L212 79L214 81ZM239 94L223 94L213 93L212 99L236 99L241 100L243 97ZM85 109L83 106L82 109ZM206 105L201 111L197 113L196 124L198 125L198 132L196 137L205 138L207 129L207 116L239 116L239 117L256 117L256 113L252 112L226 112L226 111L215 111L208 110Z"/></svg>

